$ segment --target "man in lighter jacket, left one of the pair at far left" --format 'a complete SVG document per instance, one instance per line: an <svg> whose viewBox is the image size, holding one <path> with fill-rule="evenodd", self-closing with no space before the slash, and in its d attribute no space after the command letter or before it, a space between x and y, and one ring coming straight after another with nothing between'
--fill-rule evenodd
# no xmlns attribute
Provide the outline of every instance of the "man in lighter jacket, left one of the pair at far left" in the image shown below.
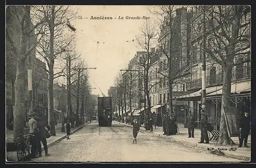
<svg viewBox="0 0 256 168"><path fill-rule="evenodd" d="M28 126L29 126L29 133L34 135L31 139L32 147L31 147L31 155L30 158L38 158L36 156L36 151L39 146L39 129L37 128L37 113L32 112L31 113L31 118L29 119Z"/></svg>

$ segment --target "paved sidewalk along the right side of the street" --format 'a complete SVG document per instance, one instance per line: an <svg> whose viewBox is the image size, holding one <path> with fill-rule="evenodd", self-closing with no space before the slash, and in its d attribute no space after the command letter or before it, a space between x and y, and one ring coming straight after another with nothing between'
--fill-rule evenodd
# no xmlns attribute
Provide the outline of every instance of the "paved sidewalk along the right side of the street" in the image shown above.
<svg viewBox="0 0 256 168"><path fill-rule="evenodd" d="M115 121L116 122L116 121ZM119 123L119 122L117 122ZM130 126L128 124L125 123L120 123L122 125L126 125L126 126ZM161 137L166 137L166 138L170 138L173 139L174 141L178 141L178 142L182 142L186 145L192 145L192 146L196 146L199 148L204 148L205 150L208 149L212 149L214 148L214 150L221 150L226 156L232 157L232 158L236 158L236 159L240 159L240 160L246 160L249 161L250 157L251 157L251 148L238 148L239 145L239 139L238 137L232 137L231 139L234 141L234 143L236 143L236 145L233 146L217 146L218 141L210 141L209 144L205 144L205 143L198 143L200 141L200 137L201 137L201 131L200 129L195 129L195 138L188 138L188 130L187 128L184 128L184 125L178 124L179 127L179 132L177 135L170 135L170 136L165 136L163 135L163 131L162 131L162 127L155 127L153 128L153 134L156 134L158 136ZM141 127L141 131L142 132L150 132L150 131L145 131L144 127ZM251 145L251 135L249 135L248 137L248 146ZM231 150L231 148L237 148L236 151L229 151ZM227 150L226 150L227 149Z"/></svg>

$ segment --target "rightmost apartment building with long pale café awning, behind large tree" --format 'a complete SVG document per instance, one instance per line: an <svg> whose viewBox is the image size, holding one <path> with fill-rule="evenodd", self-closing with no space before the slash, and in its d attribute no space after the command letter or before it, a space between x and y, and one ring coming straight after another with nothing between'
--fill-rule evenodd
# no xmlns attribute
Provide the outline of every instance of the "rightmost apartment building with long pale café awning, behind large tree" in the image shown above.
<svg viewBox="0 0 256 168"><path fill-rule="evenodd" d="M212 47L212 27L209 25L210 19L213 19L212 11L218 10L217 6L209 6L206 8L206 49L211 50ZM234 6L222 6L223 13L226 18L232 20L232 8ZM190 55L191 55L191 80L186 83L187 90L193 92L179 97L178 100L188 101L189 109L194 113L196 120L200 121L201 116L201 87L202 87L202 32L203 32L203 13L199 8L193 9L193 18L190 20L191 39ZM241 18L241 25L250 25L250 9L244 7L244 12ZM216 17L216 16L215 16ZM229 21L229 20L226 20ZM220 29L218 26L216 29ZM244 31L242 27L240 33ZM250 28L249 28L250 29ZM227 34L231 33L232 24L227 28ZM242 45L242 44L241 44ZM250 50L250 49L247 49ZM250 55L238 54L234 57L234 63L244 61ZM232 68L232 83L231 83L231 106L237 108L238 113L248 111L250 109L250 78L251 64L244 62ZM222 66L216 63L206 52L206 113L208 120L214 125L215 129L219 129L221 116L221 95L223 85L223 69Z"/></svg>

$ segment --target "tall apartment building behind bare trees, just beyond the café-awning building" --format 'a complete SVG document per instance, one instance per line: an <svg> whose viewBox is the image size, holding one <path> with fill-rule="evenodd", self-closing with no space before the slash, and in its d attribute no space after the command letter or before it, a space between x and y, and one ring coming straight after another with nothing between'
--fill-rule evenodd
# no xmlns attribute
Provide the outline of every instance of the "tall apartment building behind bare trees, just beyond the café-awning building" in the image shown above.
<svg viewBox="0 0 256 168"><path fill-rule="evenodd" d="M172 86L172 97L173 97L173 110L177 115L179 123L184 122L185 111L187 112L188 106L185 101L176 101L175 98L178 95L186 94L186 82L189 81L190 70L189 70L189 43L190 39L190 19L191 11L187 11L186 8L179 8L175 11L176 15L172 18L172 34L169 31L170 19L165 16L160 26L160 37L158 43L160 45L157 49L159 53L156 61L156 66L152 67L153 78L152 82L155 83L154 89L152 90L152 103L154 107L153 111L158 111L161 104L167 111L168 99L169 99L169 88L168 88L168 74L174 78ZM170 40L170 36L173 39ZM169 47L171 47L172 58L168 61ZM165 53L163 52L165 51ZM168 65L172 65L172 70L169 72ZM152 83L152 84L153 84Z"/></svg>

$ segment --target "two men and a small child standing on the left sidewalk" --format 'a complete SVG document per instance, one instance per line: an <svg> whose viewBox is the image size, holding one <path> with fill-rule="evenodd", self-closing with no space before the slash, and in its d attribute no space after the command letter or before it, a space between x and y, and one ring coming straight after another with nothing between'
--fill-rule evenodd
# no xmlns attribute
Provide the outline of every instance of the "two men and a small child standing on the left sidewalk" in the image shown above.
<svg viewBox="0 0 256 168"><path fill-rule="evenodd" d="M50 126L43 122L41 118L37 116L36 112L33 112L31 114L31 118L28 122L29 127L29 134L32 134L33 137L31 139L31 154L30 158L38 158L42 156L42 148L41 148L41 142L44 146L45 156L50 156L51 154L48 153L48 146L47 146L47 138L50 137L49 131ZM47 128L47 129L46 129ZM67 132L67 140L70 139L70 122L67 121L66 124L66 132ZM37 155L38 154L38 155Z"/></svg>

